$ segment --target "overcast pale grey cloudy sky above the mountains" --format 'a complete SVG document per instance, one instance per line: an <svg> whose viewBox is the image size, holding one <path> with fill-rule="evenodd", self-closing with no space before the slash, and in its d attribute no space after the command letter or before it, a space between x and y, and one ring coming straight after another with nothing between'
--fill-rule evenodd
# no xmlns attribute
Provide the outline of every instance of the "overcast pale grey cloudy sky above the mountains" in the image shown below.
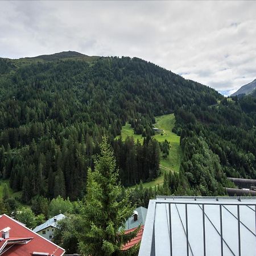
<svg viewBox="0 0 256 256"><path fill-rule="evenodd" d="M0 57L69 50L141 57L233 93L256 79L256 1L0 1Z"/></svg>

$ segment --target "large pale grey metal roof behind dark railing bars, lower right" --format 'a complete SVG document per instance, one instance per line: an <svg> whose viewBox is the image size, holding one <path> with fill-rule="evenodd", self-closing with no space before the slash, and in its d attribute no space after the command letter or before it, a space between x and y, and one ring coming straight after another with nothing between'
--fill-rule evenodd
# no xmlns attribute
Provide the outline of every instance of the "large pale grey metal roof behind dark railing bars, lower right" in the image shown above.
<svg viewBox="0 0 256 256"><path fill-rule="evenodd" d="M150 200L139 256L256 255L256 197Z"/></svg>

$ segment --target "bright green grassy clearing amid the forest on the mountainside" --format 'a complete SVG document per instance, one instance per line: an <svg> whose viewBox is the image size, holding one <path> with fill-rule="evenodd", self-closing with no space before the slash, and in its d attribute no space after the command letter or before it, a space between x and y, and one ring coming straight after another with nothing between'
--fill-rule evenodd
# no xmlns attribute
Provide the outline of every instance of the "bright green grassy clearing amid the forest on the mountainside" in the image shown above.
<svg viewBox="0 0 256 256"><path fill-rule="evenodd" d="M153 181L144 183L144 187L149 188L154 187L155 185L162 185L164 172L179 171L182 153L180 148L180 137L175 133L172 133L174 125L174 114L160 115L159 117L156 117L156 123L154 126L163 130L163 132L161 134L154 135L154 138L159 142L163 142L165 139L170 142L170 151L166 159L161 156L159 177ZM122 127L121 136L123 139L127 136L133 136L135 141L138 139L140 142L144 139L141 135L134 134L134 130L129 123L126 123L126 125Z"/></svg>

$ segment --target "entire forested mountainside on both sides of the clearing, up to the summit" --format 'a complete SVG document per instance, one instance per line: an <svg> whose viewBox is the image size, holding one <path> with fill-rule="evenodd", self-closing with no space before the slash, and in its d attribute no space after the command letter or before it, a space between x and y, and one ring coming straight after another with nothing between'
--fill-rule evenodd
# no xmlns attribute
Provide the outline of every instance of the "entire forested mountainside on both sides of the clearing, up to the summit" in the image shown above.
<svg viewBox="0 0 256 256"><path fill-rule="evenodd" d="M1 179L22 190L25 202L35 195L84 196L103 134L119 158L134 152L120 168L124 185L154 179L159 144L151 138L152 125L156 115L167 113L176 115L184 154L180 174L166 177L170 192L217 195L226 175L256 177L253 96L230 102L135 57L73 52L0 59L0 92ZM144 133L143 144L115 141L126 122Z"/></svg>

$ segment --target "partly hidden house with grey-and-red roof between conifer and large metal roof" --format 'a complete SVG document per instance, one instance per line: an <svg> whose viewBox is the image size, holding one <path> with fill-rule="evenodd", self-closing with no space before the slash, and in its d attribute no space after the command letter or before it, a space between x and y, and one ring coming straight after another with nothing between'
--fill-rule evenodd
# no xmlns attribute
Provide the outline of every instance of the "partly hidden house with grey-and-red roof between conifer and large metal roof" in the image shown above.
<svg viewBox="0 0 256 256"><path fill-rule="evenodd" d="M123 250L127 250L130 247L141 242L144 224L146 221L146 216L147 216L147 208L138 207L134 210L133 216L128 218L128 220L125 222L125 233L126 234L133 232L135 229L138 228L139 225L141 225L141 228L139 229L137 236L134 237L130 242L126 243L126 245L123 246Z"/></svg>

